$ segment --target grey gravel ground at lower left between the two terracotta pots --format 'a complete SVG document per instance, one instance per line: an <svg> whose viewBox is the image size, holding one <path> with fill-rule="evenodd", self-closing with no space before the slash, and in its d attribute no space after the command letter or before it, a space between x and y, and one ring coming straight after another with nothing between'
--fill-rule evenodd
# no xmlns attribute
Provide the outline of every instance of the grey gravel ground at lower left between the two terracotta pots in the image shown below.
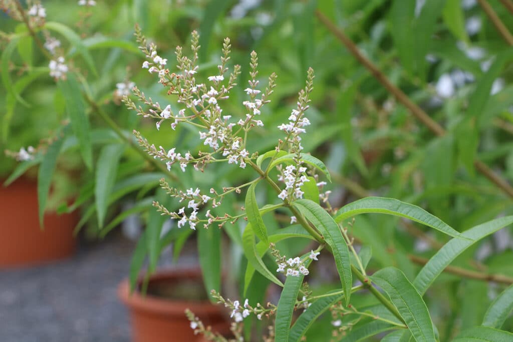
<svg viewBox="0 0 513 342"><path fill-rule="evenodd" d="M116 287L128 275L132 250L116 238L68 260L0 270L0 341L130 341Z"/></svg>

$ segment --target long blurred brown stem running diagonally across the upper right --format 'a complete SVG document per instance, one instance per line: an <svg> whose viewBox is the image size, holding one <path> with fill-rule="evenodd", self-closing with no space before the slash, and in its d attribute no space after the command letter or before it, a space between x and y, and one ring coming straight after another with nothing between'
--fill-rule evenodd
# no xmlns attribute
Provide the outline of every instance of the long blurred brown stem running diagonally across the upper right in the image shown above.
<svg viewBox="0 0 513 342"><path fill-rule="evenodd" d="M480 0L481 1L481 0ZM372 62L367 59L359 50L358 47L347 37L344 32L342 32L337 26L335 26L329 18L321 13L319 10L315 11L315 15L319 18L319 20L326 26L326 28L336 36L349 50L349 52L356 58L358 61L367 68L372 75L394 96L396 99L402 103L409 111L417 117L431 132L435 133L438 136L442 136L445 134L445 129L433 120L424 110L422 110L419 106L413 103L408 96L399 88L394 86L388 78L376 67ZM488 166L486 166L483 162L476 159L474 162L474 166L476 169L481 172L485 177L487 177L492 183L497 185L504 193L506 193L509 197L513 198L513 187L511 187L504 179L499 177L494 173Z"/></svg>

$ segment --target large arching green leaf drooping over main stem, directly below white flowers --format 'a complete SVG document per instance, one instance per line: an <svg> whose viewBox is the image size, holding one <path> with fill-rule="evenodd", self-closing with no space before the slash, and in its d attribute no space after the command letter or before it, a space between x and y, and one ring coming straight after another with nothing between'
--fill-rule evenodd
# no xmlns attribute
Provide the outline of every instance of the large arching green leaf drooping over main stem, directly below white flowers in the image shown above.
<svg viewBox="0 0 513 342"><path fill-rule="evenodd" d="M349 304L352 286L351 259L349 257L349 249L339 226L324 208L309 199L295 200L292 202L292 205L298 208L313 226L319 230L326 243L331 247L342 288L344 293L347 293L345 296L346 304Z"/></svg>

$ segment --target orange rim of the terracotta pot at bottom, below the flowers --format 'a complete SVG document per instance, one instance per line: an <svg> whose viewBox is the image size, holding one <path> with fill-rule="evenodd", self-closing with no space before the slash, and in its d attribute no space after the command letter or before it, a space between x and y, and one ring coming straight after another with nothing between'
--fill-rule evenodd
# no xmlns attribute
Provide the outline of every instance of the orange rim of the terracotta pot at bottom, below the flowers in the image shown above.
<svg viewBox="0 0 513 342"><path fill-rule="evenodd" d="M173 269L157 271L150 276L152 280L178 280L180 278L201 279L200 269ZM143 277L139 277L140 284ZM117 295L123 303L132 310L147 311L165 315L179 315L185 318L185 309L190 309L195 314L223 314L223 307L212 304L209 300L188 301L163 299L157 296L143 296L139 291L130 293L130 279L125 278L117 288Z"/></svg>

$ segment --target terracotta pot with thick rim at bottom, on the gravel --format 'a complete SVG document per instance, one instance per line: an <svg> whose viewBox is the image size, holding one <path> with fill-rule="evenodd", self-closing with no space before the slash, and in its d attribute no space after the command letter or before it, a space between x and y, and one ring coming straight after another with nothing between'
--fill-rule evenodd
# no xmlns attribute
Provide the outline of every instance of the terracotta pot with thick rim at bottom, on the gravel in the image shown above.
<svg viewBox="0 0 513 342"><path fill-rule="evenodd" d="M150 277L150 288L155 284L178 284L184 279L202 281L200 270L162 271ZM185 309L190 309L200 317L212 331L229 332L229 322L225 308L213 305L208 300L175 300L153 295L143 296L140 292L130 293L130 283L125 279L118 289L123 303L130 309L133 342L200 342L204 339L194 335Z"/></svg>

